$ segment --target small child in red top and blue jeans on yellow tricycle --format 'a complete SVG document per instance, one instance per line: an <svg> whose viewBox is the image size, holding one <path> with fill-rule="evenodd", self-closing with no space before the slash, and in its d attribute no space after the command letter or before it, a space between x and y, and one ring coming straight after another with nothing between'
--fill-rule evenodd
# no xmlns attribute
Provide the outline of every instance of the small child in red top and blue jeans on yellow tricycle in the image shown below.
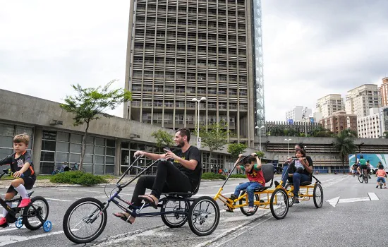
<svg viewBox="0 0 388 247"><path fill-rule="evenodd" d="M238 155L238 159L241 159L243 155ZM261 170L261 162L259 157L255 153L251 155L249 159L244 160L244 164L242 166L237 166L236 169L241 169L245 171L249 182L242 183L236 187L234 194L231 195L231 199L238 198L240 195L240 191L246 189L248 193L248 212L253 212L254 209L254 193L255 188L261 188L265 186L264 175Z"/></svg>

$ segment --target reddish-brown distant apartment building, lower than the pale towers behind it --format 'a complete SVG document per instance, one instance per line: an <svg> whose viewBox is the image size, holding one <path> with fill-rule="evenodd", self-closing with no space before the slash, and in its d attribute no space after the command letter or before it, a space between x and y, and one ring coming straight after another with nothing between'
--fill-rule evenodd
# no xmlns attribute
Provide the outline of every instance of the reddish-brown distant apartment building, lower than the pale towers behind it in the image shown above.
<svg viewBox="0 0 388 247"><path fill-rule="evenodd" d="M334 112L331 116L321 119L320 123L324 128L337 134L345 129L357 131L357 116L347 114L345 111Z"/></svg>

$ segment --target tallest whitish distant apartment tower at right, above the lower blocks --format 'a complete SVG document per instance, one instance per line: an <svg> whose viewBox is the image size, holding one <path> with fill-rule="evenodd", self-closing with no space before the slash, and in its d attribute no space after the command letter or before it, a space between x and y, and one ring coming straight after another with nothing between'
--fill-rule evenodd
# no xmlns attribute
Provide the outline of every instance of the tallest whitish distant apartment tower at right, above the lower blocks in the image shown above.
<svg viewBox="0 0 388 247"><path fill-rule="evenodd" d="M364 84L348 91L346 113L358 117L368 116L370 108L381 107L380 92L375 84Z"/></svg>

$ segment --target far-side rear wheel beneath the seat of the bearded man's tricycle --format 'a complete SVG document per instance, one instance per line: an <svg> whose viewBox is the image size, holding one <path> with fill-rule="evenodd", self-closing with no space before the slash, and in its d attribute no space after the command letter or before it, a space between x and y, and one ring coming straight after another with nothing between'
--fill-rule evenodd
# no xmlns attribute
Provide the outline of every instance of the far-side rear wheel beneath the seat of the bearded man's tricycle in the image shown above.
<svg viewBox="0 0 388 247"><path fill-rule="evenodd" d="M175 200L174 198L168 198L164 200L162 205L162 222L171 228L182 227L188 219L188 209L190 203L187 200ZM171 214L163 214L164 212L174 212Z"/></svg>

